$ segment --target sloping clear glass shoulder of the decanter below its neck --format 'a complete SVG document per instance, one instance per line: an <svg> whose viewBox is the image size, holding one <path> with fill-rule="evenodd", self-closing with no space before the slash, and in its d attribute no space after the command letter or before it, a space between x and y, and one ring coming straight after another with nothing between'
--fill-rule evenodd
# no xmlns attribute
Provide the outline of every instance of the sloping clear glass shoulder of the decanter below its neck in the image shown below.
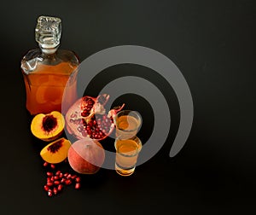
<svg viewBox="0 0 256 215"><path fill-rule="evenodd" d="M72 50L57 49L46 55L41 49L29 50L23 56L20 67L25 74L30 73L73 73L79 67L79 56Z"/></svg>

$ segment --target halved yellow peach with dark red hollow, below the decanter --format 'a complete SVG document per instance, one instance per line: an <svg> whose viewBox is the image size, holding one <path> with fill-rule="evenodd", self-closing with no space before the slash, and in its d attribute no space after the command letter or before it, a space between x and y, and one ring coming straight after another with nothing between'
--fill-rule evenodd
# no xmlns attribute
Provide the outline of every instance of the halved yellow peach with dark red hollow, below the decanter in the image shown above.
<svg viewBox="0 0 256 215"><path fill-rule="evenodd" d="M65 119L60 112L39 113L32 119L31 131L35 137L44 141L53 141L64 131Z"/></svg>

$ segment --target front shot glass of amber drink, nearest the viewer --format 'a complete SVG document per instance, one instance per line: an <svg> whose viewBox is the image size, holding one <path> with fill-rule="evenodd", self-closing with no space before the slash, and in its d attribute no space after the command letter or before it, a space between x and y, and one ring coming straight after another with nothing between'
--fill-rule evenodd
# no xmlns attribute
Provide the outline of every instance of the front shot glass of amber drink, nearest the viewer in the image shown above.
<svg viewBox="0 0 256 215"><path fill-rule="evenodd" d="M137 157L143 145L138 137L119 139L114 142L116 149L115 171L121 176L131 176L135 171Z"/></svg>

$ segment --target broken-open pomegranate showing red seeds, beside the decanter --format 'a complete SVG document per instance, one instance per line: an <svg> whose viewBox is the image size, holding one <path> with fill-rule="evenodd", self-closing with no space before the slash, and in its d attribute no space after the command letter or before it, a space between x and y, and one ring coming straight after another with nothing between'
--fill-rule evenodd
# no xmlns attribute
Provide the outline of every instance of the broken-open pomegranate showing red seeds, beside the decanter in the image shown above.
<svg viewBox="0 0 256 215"><path fill-rule="evenodd" d="M113 117L125 106L106 113L108 98L107 94L96 98L84 96L75 102L66 113L67 131L78 139L90 137L99 141L108 137L114 128Z"/></svg>

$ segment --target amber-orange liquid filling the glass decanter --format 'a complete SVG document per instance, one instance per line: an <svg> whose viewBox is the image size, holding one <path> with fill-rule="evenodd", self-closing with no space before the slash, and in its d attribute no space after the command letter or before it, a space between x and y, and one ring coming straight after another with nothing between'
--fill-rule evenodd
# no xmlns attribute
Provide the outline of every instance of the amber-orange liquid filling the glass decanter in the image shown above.
<svg viewBox="0 0 256 215"><path fill-rule="evenodd" d="M71 67L68 62L61 62L55 66L38 65L34 73L24 75L27 110L31 114L50 113L53 110L61 112L62 96L68 80L65 107L72 105L77 98L77 85L75 77L74 80L69 78L77 68Z"/></svg>

